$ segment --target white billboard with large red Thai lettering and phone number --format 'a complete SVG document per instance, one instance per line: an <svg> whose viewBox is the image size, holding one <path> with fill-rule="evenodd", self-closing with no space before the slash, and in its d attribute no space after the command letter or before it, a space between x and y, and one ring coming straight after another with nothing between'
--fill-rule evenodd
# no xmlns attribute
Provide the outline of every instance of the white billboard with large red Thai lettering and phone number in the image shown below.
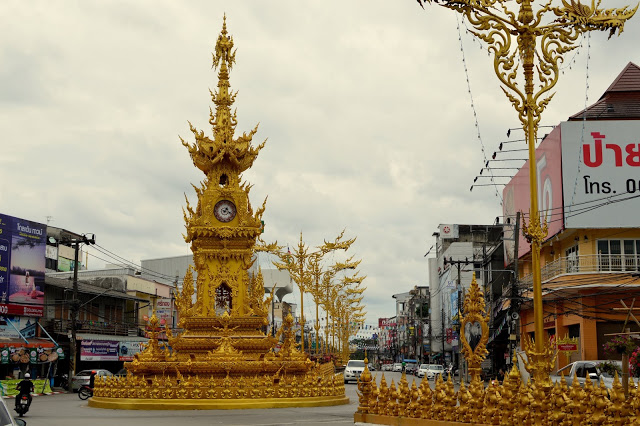
<svg viewBox="0 0 640 426"><path fill-rule="evenodd" d="M565 227L640 226L640 122L569 121L561 129Z"/></svg>

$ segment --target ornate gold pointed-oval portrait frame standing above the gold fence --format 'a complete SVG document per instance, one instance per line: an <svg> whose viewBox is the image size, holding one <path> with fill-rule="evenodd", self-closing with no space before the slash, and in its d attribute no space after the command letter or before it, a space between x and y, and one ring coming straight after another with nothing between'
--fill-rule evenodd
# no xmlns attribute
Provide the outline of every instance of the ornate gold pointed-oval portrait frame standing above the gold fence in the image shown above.
<svg viewBox="0 0 640 426"><path fill-rule="evenodd" d="M480 379L480 364L489 353L487 351L489 315L486 312L484 295L476 281L475 272L462 309L464 311L460 326L462 354L469 364L471 380L475 382ZM461 314L458 313L458 315Z"/></svg>

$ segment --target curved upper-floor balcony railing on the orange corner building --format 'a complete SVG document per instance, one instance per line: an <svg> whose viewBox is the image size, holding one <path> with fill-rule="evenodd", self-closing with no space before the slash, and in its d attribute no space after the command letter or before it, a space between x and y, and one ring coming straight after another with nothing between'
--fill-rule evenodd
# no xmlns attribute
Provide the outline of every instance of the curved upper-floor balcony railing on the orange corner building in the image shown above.
<svg viewBox="0 0 640 426"><path fill-rule="evenodd" d="M592 254L584 256L561 257L540 268L544 283L563 274L576 273L629 273L640 272L640 255ZM520 280L520 286L533 285L533 275Z"/></svg>

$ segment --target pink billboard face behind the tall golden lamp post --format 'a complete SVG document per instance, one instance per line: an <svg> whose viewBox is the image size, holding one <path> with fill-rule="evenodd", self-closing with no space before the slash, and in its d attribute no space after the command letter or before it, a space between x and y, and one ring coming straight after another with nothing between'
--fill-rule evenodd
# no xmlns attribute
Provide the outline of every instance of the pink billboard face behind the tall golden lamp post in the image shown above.
<svg viewBox="0 0 640 426"><path fill-rule="evenodd" d="M547 238L549 238L563 229L562 145L559 126L554 128L536 148L536 169L538 172L538 209L541 221L546 220L549 227L547 234ZM521 212L521 229L524 223L529 223L530 194L529 161L527 161L502 192L504 223L515 224L517 212ZM522 231L519 232L517 238L519 238L518 257L522 257L531 251L531 244L522 235ZM515 258L515 239L512 227L505 227L504 239L505 265L508 265Z"/></svg>

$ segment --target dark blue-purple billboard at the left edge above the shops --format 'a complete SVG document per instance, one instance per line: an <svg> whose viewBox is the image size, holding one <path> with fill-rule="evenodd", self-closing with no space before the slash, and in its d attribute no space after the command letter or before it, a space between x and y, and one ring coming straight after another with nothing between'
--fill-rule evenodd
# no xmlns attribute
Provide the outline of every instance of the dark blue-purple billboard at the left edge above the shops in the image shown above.
<svg viewBox="0 0 640 426"><path fill-rule="evenodd" d="M46 225L0 214L0 314L42 316L46 238Z"/></svg>

